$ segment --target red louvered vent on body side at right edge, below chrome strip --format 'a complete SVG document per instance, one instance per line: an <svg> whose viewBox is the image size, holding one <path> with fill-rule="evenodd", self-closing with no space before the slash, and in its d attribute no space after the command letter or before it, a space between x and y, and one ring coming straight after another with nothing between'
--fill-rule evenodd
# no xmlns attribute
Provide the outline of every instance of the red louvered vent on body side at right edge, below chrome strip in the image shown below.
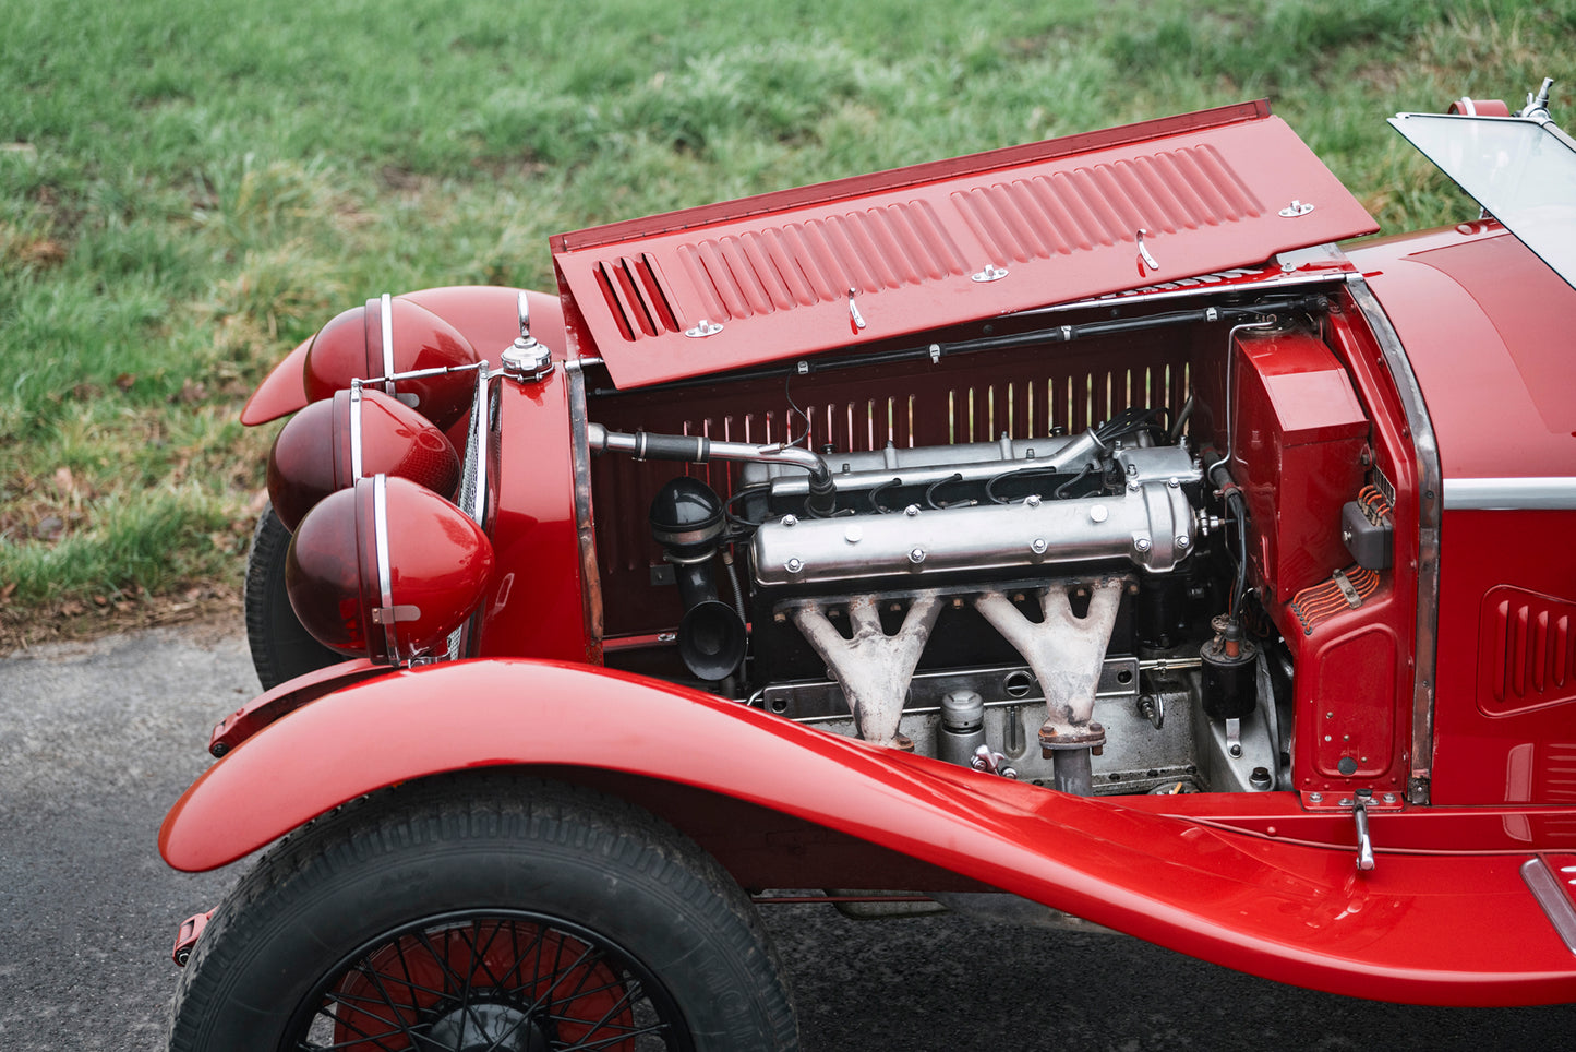
<svg viewBox="0 0 1576 1052"><path fill-rule="evenodd" d="M1491 714L1576 700L1576 602L1502 585L1483 599L1478 703Z"/></svg>

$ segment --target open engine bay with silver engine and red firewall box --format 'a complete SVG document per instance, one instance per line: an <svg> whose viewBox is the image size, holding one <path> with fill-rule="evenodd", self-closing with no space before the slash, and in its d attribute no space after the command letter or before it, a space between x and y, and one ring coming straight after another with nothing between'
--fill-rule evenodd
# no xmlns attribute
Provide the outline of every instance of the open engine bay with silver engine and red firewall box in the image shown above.
<svg viewBox="0 0 1576 1052"><path fill-rule="evenodd" d="M1083 304L593 388L605 662L1075 793L1390 771L1393 735L1299 724L1307 669L1393 647L1395 484L1336 300ZM1357 702L1388 721L1395 683Z"/></svg>

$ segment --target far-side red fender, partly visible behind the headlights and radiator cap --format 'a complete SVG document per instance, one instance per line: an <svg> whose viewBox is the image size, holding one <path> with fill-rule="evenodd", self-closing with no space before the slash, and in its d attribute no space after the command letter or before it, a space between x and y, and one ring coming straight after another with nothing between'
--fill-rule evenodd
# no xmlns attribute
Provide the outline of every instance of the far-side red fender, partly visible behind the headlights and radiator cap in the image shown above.
<svg viewBox="0 0 1576 1052"><path fill-rule="evenodd" d="M444 322L460 330L465 339L482 358L498 360L498 352L520 334L517 309L519 289L495 285L446 285L400 293L400 300L427 308ZM531 334L547 344L561 358L564 353L564 309L556 295L526 292L531 303ZM314 334L315 338L315 334ZM285 355L263 379L241 410L241 423L247 427L279 420L306 405L306 388L301 383L301 366L312 345L307 339Z"/></svg>

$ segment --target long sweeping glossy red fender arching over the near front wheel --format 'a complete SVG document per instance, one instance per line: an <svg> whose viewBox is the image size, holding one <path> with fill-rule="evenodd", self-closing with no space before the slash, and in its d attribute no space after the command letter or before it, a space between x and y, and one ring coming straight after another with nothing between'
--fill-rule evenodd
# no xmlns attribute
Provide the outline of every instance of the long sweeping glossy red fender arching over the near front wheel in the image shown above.
<svg viewBox="0 0 1576 1052"><path fill-rule="evenodd" d="M345 688L205 771L159 850L211 869L362 793L492 765L722 793L1283 983L1436 1005L1576 1000L1576 957L1519 875L1529 855L1381 852L1360 875L1352 850L1023 785L575 664L460 661Z"/></svg>

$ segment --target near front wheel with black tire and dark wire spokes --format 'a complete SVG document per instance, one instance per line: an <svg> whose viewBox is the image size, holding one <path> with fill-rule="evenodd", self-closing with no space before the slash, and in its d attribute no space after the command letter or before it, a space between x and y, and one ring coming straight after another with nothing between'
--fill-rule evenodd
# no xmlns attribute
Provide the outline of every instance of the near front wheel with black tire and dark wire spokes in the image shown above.
<svg viewBox="0 0 1576 1052"><path fill-rule="evenodd" d="M170 1024L172 1052L797 1044L766 932L709 855L621 800L507 774L288 837L214 912Z"/></svg>

